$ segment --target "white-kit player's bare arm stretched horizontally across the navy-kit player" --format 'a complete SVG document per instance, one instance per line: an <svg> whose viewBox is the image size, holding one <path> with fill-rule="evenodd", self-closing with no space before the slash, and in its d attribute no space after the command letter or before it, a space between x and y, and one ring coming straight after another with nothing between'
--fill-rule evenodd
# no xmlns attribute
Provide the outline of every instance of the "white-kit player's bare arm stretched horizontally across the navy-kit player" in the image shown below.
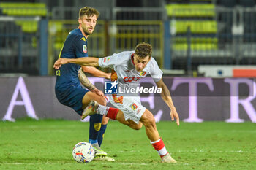
<svg viewBox="0 0 256 170"><path fill-rule="evenodd" d="M77 63L81 66L99 66L99 58L86 57L86 58L59 58L53 65L54 69L59 69L62 64Z"/></svg>

